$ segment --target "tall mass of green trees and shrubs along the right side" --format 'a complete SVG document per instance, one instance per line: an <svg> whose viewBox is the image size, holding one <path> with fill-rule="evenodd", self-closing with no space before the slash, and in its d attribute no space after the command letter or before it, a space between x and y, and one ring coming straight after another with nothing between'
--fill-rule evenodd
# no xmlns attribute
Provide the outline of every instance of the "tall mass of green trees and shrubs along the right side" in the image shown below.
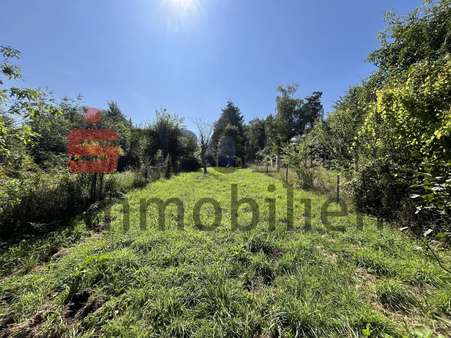
<svg viewBox="0 0 451 338"><path fill-rule="evenodd" d="M351 88L299 149L343 171L361 211L419 233L432 228L442 239L451 223L449 17L448 0L390 15L369 56L377 72Z"/></svg>

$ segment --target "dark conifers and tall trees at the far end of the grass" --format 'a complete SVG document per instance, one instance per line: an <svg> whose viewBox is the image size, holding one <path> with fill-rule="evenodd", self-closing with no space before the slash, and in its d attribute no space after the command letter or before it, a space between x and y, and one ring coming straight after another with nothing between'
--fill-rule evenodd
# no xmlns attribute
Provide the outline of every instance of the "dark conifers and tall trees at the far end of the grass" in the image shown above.
<svg viewBox="0 0 451 338"><path fill-rule="evenodd" d="M248 124L240 109L227 102L214 124L208 151L217 166L246 166L266 157L281 157L286 144L297 143L322 120L321 92L305 99L295 96L297 85L279 86L276 112Z"/></svg>

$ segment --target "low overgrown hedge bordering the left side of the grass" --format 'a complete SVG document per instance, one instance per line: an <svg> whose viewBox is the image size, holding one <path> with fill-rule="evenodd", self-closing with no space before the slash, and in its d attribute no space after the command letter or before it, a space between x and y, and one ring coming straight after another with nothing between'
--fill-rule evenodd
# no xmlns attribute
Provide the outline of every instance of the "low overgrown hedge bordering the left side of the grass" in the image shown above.
<svg viewBox="0 0 451 338"><path fill-rule="evenodd" d="M140 172L106 175L103 194L98 199L120 198L146 183ZM27 173L20 180L3 179L0 239L43 233L61 226L90 206L90 185L90 175L74 175L65 170Z"/></svg>

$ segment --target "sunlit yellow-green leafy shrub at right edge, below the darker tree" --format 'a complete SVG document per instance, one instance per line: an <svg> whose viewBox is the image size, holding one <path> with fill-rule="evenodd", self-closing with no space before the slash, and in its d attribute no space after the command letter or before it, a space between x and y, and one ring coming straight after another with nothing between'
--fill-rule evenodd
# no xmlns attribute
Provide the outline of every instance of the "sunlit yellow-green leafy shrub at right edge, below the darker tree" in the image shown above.
<svg viewBox="0 0 451 338"><path fill-rule="evenodd" d="M383 217L400 218L396 212L413 214L409 194L414 190L426 194L428 181L422 172L434 177L446 177L450 160L451 83L450 61L440 59L434 63L418 62L411 66L404 77L386 80L377 90L377 100L372 104L357 138L361 145L354 181L355 197L362 210L373 208L373 213ZM423 189L418 184L424 183ZM412 190L412 186L416 189ZM443 189L436 194L436 216L429 208L428 221L445 229L449 224L449 195ZM426 196L426 195L425 195ZM430 195L428 195L430 196ZM441 202L437 200L442 196ZM372 201L369 200L373 199ZM442 213L448 215L443 219ZM418 216L422 216L418 214ZM415 221L414 216L407 218ZM417 217L416 223L425 218Z"/></svg>

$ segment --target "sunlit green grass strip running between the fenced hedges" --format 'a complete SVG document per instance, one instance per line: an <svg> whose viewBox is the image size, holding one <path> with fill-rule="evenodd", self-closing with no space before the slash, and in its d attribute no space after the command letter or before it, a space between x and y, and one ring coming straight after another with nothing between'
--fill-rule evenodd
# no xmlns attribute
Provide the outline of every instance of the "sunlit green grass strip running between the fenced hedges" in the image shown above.
<svg viewBox="0 0 451 338"><path fill-rule="evenodd" d="M253 229L242 229L252 218L243 205L241 226L232 231L232 184L239 198L259 206ZM164 230L154 207L140 229L140 200L152 197L183 201L183 229L174 206ZM193 208L205 197L222 211L212 231L194 226ZM276 201L273 231L268 198ZM312 201L310 230L302 199ZM292 231L283 183L250 170L181 174L127 200L128 231L117 203L99 218L97 232L80 219L3 250L0 336L429 337L451 329L451 279L437 261L407 234L378 229L369 217L363 230L355 214L325 226L320 195L294 191ZM211 224L214 207L201 210ZM449 252L438 255L451 264Z"/></svg>

